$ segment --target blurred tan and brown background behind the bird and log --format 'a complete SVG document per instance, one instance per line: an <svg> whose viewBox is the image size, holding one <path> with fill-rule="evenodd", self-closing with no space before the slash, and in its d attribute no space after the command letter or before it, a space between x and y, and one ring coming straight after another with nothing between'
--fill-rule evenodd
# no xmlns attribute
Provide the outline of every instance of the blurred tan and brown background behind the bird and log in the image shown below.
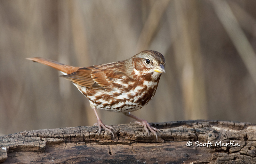
<svg viewBox="0 0 256 164"><path fill-rule="evenodd" d="M61 73L25 58L92 66L162 53L148 122L256 123L256 1L0 0L0 134L92 126L85 98ZM129 123L98 110L107 125Z"/></svg>

